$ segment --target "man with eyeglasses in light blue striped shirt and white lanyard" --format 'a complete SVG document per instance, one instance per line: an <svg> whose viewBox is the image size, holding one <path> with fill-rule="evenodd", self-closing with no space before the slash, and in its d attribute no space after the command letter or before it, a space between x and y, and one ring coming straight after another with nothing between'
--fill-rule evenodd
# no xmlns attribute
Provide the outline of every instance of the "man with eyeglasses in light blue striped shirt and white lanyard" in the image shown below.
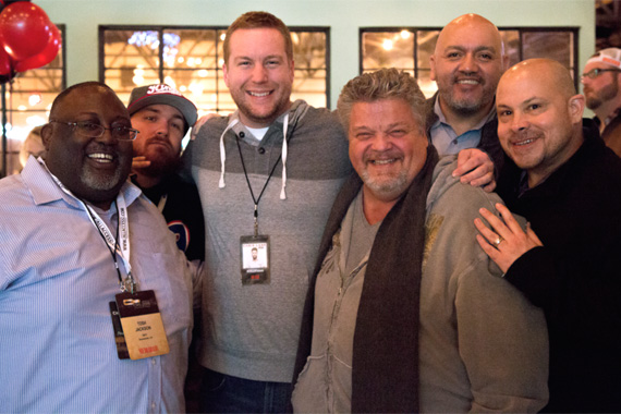
<svg viewBox="0 0 621 414"><path fill-rule="evenodd" d="M45 159L0 180L3 412L184 411L190 271L126 181L136 134L112 89L74 85Z"/></svg>

